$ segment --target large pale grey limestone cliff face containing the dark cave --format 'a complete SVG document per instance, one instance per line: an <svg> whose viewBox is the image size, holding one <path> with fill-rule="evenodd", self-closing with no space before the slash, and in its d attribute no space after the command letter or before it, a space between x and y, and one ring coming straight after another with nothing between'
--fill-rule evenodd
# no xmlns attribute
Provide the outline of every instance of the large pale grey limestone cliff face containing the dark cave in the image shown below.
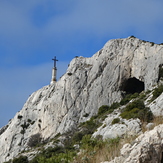
<svg viewBox="0 0 163 163"><path fill-rule="evenodd" d="M28 148L35 134L45 140L65 133L95 115L100 106L119 102L124 91L151 89L161 64L163 46L134 37L110 40L91 58L74 58L56 84L34 92L0 130L0 162Z"/></svg>

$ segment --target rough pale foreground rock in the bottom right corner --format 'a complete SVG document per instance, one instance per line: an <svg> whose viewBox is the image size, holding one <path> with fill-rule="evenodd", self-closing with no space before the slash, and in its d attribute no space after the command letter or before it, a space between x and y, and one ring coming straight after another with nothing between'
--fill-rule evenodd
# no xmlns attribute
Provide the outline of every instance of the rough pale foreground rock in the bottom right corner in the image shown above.
<svg viewBox="0 0 163 163"><path fill-rule="evenodd" d="M105 163L162 163L163 125L140 135L133 144L125 144L121 156Z"/></svg>

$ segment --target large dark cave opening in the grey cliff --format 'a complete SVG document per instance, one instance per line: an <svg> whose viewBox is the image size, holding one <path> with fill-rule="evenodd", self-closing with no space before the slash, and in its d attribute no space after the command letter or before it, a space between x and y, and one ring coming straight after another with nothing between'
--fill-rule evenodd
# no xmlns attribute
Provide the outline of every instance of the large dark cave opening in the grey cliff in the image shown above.
<svg viewBox="0 0 163 163"><path fill-rule="evenodd" d="M126 94L140 93L144 90L144 82L136 79L135 77L129 78L122 84L122 91Z"/></svg>

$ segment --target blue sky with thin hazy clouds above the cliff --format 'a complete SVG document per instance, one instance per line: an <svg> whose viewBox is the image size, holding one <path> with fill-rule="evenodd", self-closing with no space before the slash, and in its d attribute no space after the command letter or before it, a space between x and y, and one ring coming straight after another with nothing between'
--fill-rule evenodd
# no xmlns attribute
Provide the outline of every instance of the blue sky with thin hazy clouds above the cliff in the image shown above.
<svg viewBox="0 0 163 163"><path fill-rule="evenodd" d="M75 56L110 39L163 43L162 0L0 0L0 127Z"/></svg>

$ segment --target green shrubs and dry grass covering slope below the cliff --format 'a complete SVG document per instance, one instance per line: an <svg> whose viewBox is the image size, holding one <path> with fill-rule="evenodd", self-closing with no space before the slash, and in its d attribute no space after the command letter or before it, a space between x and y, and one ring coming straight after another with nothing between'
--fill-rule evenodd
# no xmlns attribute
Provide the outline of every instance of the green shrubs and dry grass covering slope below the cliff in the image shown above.
<svg viewBox="0 0 163 163"><path fill-rule="evenodd" d="M152 100L163 92L163 86L159 86L153 91ZM40 153L34 159L28 160L23 154L7 163L96 163L111 160L120 153L120 148L124 143L132 142L135 137L117 137L103 140L101 136L92 138L92 134L102 124L106 116L118 107L124 105L120 116L125 119L139 118L142 122L153 122L156 125L162 123L162 117L153 117L149 108L145 107L144 99L149 93L135 93L127 95L120 103L113 103L111 106L103 105L99 108L96 116L79 125L78 130L58 135L52 139L54 147L40 147ZM130 102L130 103L128 103ZM112 124L119 123L119 118L112 121ZM143 125L142 125L143 126ZM66 139L59 145L59 136ZM25 153L24 153L25 154Z"/></svg>

